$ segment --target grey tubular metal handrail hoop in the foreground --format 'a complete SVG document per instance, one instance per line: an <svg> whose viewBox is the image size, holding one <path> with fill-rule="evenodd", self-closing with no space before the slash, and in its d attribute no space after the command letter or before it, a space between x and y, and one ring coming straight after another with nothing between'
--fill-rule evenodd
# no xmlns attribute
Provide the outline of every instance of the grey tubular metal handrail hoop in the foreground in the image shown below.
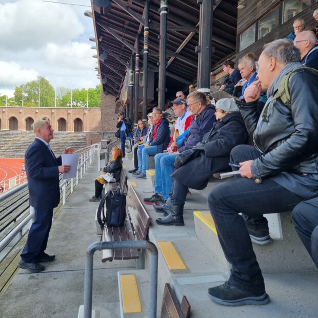
<svg viewBox="0 0 318 318"><path fill-rule="evenodd" d="M92 317L93 296L93 263L94 253L97 250L109 249L147 249L150 251L150 297L149 318L155 318L157 312L157 285L158 285L158 250L150 241L122 241L122 242L95 242L86 251L84 273L84 318Z"/></svg>

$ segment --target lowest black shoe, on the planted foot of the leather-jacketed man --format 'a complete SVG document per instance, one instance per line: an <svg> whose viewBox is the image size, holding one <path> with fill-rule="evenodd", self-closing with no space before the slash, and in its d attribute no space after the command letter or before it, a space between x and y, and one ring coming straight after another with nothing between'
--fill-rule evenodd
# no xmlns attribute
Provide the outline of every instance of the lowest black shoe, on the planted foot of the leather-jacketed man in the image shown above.
<svg viewBox="0 0 318 318"><path fill-rule="evenodd" d="M223 285L209 288L209 296L212 301L225 306L265 305L269 302L269 296L265 291L255 294L239 289L228 281Z"/></svg>

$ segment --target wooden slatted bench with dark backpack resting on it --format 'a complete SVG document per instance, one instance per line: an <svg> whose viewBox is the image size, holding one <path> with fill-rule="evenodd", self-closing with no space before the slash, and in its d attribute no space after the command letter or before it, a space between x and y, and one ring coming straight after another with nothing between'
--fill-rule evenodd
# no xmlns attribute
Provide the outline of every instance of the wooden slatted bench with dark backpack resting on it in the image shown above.
<svg viewBox="0 0 318 318"><path fill-rule="evenodd" d="M104 209L106 206L104 205ZM106 210L104 210L106 213ZM117 242L117 241L144 241L147 239L148 229L151 217L140 202L134 188L129 187L127 193L126 205L126 221L121 227L104 226L102 232L103 242ZM112 260L137 260L141 258L141 264L137 267L143 267L142 251L136 249L123 250L103 250L102 262Z"/></svg>

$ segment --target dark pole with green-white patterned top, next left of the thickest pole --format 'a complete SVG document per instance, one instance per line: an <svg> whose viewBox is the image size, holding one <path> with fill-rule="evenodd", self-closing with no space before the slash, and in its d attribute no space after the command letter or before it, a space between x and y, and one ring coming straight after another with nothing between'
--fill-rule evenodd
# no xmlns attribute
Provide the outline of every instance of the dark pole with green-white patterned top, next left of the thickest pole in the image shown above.
<svg viewBox="0 0 318 318"><path fill-rule="evenodd" d="M160 3L160 42L159 42L159 87L158 107L162 110L165 108L166 98L166 49L167 49L167 14L168 1L161 0Z"/></svg>

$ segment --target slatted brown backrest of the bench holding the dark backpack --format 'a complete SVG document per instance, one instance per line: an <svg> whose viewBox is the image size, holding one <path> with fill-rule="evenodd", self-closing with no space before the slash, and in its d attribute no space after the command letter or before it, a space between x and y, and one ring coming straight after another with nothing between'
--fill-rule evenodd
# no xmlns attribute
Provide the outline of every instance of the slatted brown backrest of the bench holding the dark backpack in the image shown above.
<svg viewBox="0 0 318 318"><path fill-rule="evenodd" d="M146 240L151 217L139 200L136 191L132 186L128 188L127 211L131 217L136 240Z"/></svg>

